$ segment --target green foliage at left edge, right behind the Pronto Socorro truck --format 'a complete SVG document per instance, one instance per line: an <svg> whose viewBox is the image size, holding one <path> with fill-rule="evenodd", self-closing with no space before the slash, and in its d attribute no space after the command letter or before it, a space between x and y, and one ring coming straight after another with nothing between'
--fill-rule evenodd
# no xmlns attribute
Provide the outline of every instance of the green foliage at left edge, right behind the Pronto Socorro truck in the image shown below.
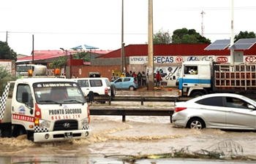
<svg viewBox="0 0 256 164"><path fill-rule="evenodd" d="M4 92L4 87L8 81L16 80L16 77L12 76L12 73L4 66L0 66L0 96Z"/></svg>

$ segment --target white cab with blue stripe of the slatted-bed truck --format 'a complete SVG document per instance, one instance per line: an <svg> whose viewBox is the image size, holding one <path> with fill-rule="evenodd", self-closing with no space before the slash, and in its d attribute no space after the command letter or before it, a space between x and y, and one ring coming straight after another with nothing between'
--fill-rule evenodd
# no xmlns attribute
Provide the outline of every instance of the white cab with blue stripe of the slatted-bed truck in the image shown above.
<svg viewBox="0 0 256 164"><path fill-rule="evenodd" d="M179 96L204 95L211 87L211 61L185 61L178 78Z"/></svg>

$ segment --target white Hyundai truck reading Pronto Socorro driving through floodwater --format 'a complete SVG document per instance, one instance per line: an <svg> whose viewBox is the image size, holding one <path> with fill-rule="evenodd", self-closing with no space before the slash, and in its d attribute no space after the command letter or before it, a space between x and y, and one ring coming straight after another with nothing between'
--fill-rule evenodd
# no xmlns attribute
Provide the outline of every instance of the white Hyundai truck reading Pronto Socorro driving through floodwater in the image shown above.
<svg viewBox="0 0 256 164"><path fill-rule="evenodd" d="M0 135L34 142L89 137L90 112L77 82L22 78L8 82L0 104Z"/></svg>

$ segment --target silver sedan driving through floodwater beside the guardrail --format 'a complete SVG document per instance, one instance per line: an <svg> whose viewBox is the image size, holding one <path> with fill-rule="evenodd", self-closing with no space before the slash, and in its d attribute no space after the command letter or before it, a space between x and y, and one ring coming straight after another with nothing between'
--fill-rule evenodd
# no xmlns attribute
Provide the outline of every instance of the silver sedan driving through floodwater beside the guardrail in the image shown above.
<svg viewBox="0 0 256 164"><path fill-rule="evenodd" d="M256 102L233 93L202 95L176 103L172 121L184 128L256 130Z"/></svg>

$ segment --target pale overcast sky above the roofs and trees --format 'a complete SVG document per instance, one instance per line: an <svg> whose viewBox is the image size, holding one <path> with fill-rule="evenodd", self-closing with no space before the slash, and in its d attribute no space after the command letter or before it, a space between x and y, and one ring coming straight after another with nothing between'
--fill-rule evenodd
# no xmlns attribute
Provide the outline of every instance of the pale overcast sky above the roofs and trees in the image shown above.
<svg viewBox="0 0 256 164"><path fill-rule="evenodd" d="M153 0L153 31L195 29L214 42L230 39L232 0ZM0 0L0 41L18 54L69 50L82 44L99 50L121 47L121 0ZM233 0L234 35L256 32L256 0ZM202 19L202 11L203 14ZM148 0L124 0L124 42L148 42Z"/></svg>

